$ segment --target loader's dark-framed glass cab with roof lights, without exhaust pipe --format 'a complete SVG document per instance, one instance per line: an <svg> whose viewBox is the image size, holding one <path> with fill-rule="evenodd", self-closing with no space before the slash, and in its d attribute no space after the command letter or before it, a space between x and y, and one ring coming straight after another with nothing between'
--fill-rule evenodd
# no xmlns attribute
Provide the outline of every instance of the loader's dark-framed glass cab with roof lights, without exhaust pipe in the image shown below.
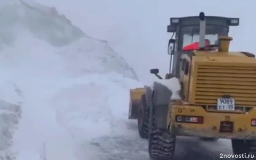
<svg viewBox="0 0 256 160"><path fill-rule="evenodd" d="M216 45L219 36L228 36L229 26L239 25L239 18L205 16L205 23L204 38L210 40L211 45ZM182 49L184 46L199 42L200 18L198 16L170 18L167 32L172 33L172 38L168 42L168 54L171 56L170 73L179 77L181 55L187 53L188 57L191 57L189 54L192 54Z"/></svg>

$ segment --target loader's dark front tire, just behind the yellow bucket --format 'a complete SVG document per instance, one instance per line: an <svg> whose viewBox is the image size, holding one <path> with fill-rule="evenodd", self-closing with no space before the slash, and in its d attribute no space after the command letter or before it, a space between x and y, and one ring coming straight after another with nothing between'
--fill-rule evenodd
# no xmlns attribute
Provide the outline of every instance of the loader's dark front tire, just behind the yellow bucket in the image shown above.
<svg viewBox="0 0 256 160"><path fill-rule="evenodd" d="M138 117L138 132L141 138L148 138L149 107L146 105L146 95L141 96L140 110Z"/></svg>

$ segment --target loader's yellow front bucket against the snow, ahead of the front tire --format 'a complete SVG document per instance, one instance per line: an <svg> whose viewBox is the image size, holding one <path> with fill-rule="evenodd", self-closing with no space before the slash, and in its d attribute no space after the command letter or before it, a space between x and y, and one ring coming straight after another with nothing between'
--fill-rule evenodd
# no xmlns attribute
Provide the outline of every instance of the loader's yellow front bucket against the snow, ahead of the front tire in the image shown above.
<svg viewBox="0 0 256 160"><path fill-rule="evenodd" d="M130 104L129 104L129 115L128 119L138 119L140 99L144 94L145 88L130 89Z"/></svg>

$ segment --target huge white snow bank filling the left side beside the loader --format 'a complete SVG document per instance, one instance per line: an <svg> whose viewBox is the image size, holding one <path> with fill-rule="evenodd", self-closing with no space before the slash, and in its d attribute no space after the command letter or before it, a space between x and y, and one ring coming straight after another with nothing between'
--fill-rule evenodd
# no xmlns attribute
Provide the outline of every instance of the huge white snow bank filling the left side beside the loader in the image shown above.
<svg viewBox="0 0 256 160"><path fill-rule="evenodd" d="M125 134L125 60L47 7L0 6L0 159L82 160L83 141Z"/></svg>

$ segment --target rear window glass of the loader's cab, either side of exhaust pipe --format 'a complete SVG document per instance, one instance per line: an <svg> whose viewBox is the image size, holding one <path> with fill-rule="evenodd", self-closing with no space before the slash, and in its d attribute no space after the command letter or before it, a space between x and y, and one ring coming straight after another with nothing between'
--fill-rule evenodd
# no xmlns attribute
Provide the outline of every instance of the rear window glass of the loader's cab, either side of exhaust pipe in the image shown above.
<svg viewBox="0 0 256 160"><path fill-rule="evenodd" d="M183 26L181 27L183 45L187 46L194 42L199 42L199 26ZM205 39L210 41L210 44L218 43L218 36L227 35L228 29L223 26L206 25Z"/></svg>

